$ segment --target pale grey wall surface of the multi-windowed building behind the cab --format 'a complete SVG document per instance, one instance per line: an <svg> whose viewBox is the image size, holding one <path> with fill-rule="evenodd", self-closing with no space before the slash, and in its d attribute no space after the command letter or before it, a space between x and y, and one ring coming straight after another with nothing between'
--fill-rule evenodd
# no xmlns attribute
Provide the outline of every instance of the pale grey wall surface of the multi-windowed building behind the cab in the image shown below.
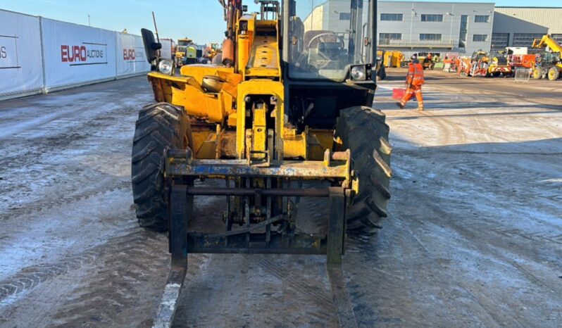
<svg viewBox="0 0 562 328"><path fill-rule="evenodd" d="M366 1L363 21L366 22ZM319 15L322 8L323 15ZM349 0L328 0L316 7L315 14L305 19L305 27L337 32L349 29L349 20L341 19L342 13L349 13ZM382 14L399 14L401 20L384 20ZM442 15L442 21L423 21L427 15ZM459 46L461 18L466 16L467 33L464 47ZM477 22L475 16L487 16L487 21ZM312 22L313 20L313 22ZM494 23L493 3L436 3L417 1L378 1L377 39L380 49L401 50L407 55L416 52L460 52L468 55L478 49L489 50L492 42ZM380 34L399 34L400 39L381 40ZM441 39L427 41L420 34L438 34ZM475 39L484 37L482 41ZM427 37L427 36L424 36Z"/></svg>

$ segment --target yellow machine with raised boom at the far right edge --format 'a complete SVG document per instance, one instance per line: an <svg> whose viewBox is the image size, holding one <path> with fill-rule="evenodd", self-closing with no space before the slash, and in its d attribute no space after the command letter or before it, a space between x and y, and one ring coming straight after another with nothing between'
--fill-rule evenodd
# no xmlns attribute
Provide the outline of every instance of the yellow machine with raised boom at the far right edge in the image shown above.
<svg viewBox="0 0 562 328"><path fill-rule="evenodd" d="M535 67L532 69L532 77L535 79L558 80L562 72L561 53L562 46L553 39L550 34L544 34L541 39L532 42L532 48L544 49L536 54Z"/></svg>

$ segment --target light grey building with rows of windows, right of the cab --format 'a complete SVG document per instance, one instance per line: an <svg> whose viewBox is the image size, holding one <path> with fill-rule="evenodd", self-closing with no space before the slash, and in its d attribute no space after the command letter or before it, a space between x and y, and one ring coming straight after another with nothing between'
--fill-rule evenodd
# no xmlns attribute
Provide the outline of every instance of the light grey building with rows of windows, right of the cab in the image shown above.
<svg viewBox="0 0 562 328"><path fill-rule="evenodd" d="M380 49L473 53L489 49L493 3L380 1Z"/></svg>

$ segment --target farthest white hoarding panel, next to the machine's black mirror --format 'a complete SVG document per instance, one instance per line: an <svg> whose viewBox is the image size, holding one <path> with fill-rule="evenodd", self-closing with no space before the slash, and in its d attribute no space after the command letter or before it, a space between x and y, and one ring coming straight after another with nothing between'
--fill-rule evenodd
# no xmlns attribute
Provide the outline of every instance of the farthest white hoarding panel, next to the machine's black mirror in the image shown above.
<svg viewBox="0 0 562 328"><path fill-rule="evenodd" d="M127 33L115 33L115 59L117 76L135 75L150 70L146 61L142 37Z"/></svg>

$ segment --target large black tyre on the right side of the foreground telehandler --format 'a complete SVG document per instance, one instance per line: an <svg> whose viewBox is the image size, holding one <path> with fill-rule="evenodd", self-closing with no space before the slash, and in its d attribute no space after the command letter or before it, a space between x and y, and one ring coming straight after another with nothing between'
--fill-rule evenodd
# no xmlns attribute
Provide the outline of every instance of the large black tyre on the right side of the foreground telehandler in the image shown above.
<svg viewBox="0 0 562 328"><path fill-rule="evenodd" d="M336 134L344 149L351 150L353 169L359 178L359 193L346 211L350 232L377 232L382 227L382 218L387 217L392 176L388 133L381 111L366 106L340 111Z"/></svg>

